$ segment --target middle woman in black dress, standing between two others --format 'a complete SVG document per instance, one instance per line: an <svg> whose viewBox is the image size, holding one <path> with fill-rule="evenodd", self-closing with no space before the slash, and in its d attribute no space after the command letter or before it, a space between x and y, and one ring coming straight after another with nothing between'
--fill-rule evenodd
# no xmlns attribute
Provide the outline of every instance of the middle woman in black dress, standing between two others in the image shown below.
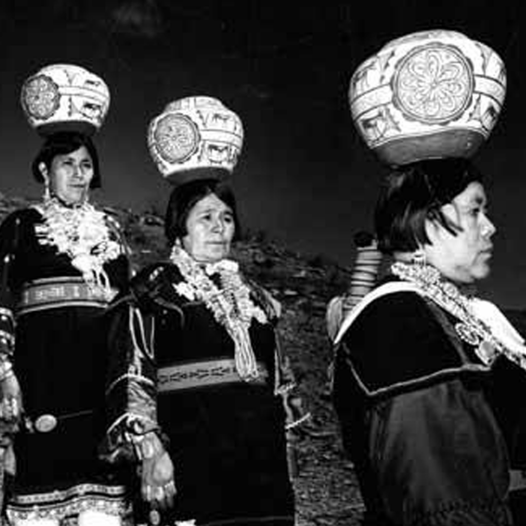
<svg viewBox="0 0 526 526"><path fill-rule="evenodd" d="M142 459L143 497L163 524L292 525L285 427L295 424L283 402L295 411L297 399L277 302L228 259L234 195L217 179L188 181L171 194L165 229L170 260L140 272L110 313L120 356L110 449Z"/></svg>

